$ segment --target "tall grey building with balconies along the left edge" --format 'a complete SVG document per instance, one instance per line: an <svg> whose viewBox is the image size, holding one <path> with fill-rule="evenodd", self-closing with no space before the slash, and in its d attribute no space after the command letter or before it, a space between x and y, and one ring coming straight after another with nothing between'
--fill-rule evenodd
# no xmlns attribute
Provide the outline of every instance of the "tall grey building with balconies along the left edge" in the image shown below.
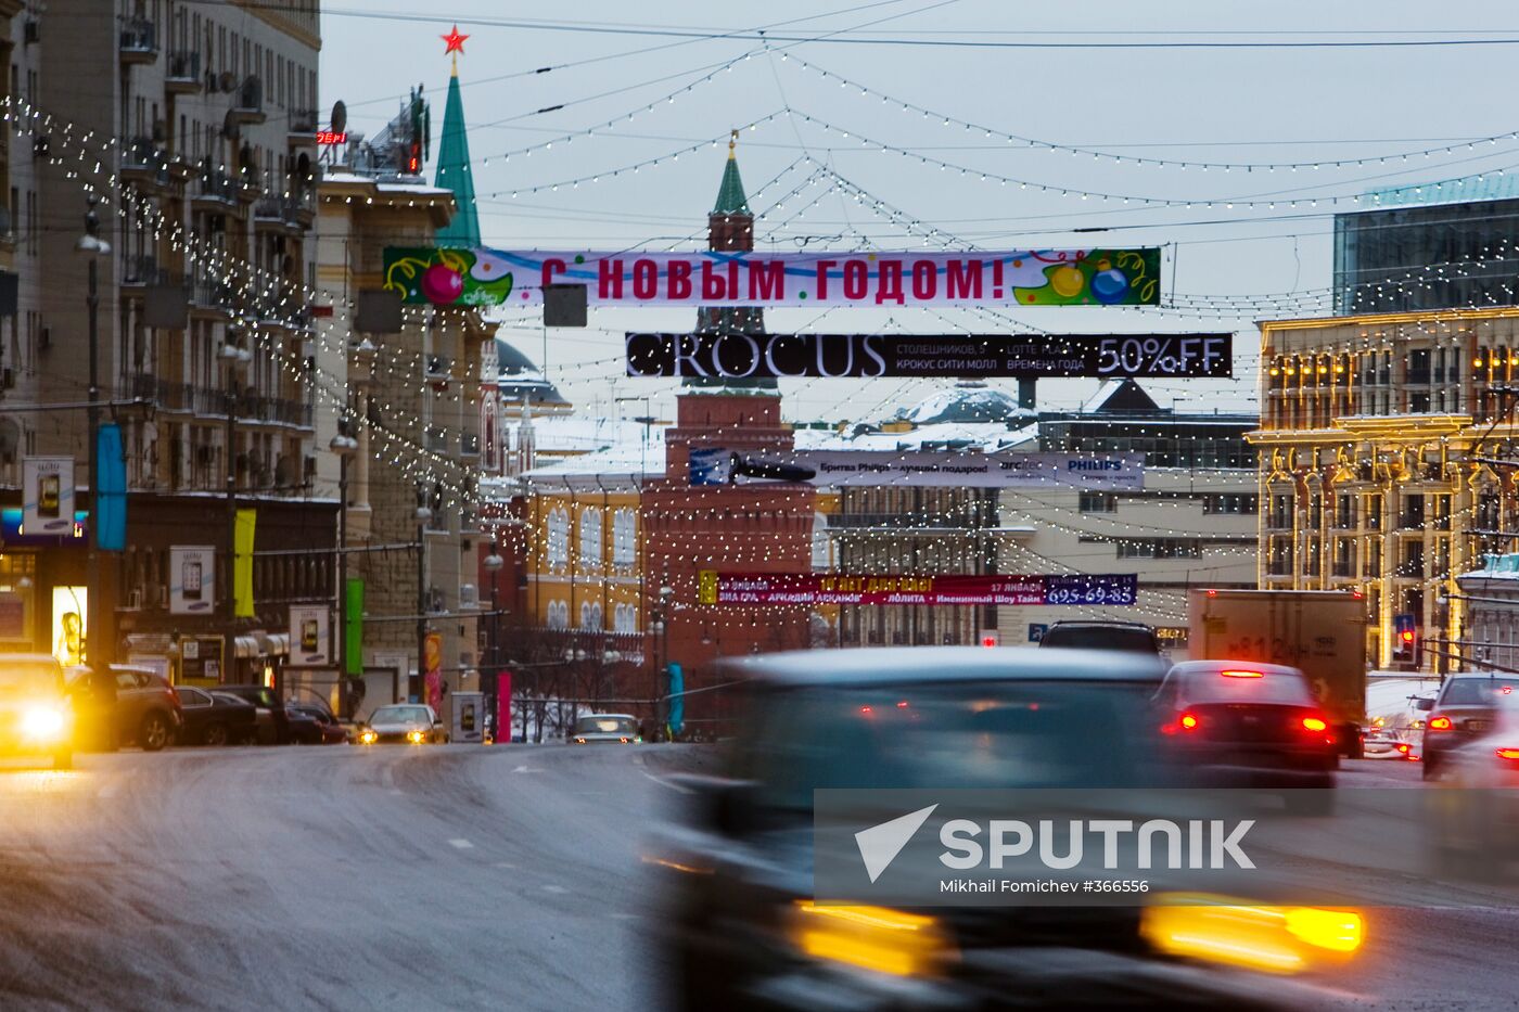
<svg viewBox="0 0 1519 1012"><path fill-rule="evenodd" d="M0 20L12 6L0 6ZM305 369L314 137L290 129L316 105L317 5L103 6L11 11L0 201L20 283L0 340L0 497L17 501L23 456L71 456L77 504L93 511L84 410L93 260L97 400L122 433L129 549L102 561L91 658L173 667L179 634L222 643L226 675L238 656L238 676L278 675L286 605L330 594L330 576L258 579L264 600L234 617L228 562L234 509L263 511L255 553L331 547L334 501L313 485L321 451ZM108 198L99 207L108 251L87 257L76 243L91 190ZM266 228L255 208L270 199L302 210ZM167 553L184 542L217 555L214 611L166 606ZM50 585L82 582L77 547L26 546L38 579L23 625L39 647Z"/></svg>

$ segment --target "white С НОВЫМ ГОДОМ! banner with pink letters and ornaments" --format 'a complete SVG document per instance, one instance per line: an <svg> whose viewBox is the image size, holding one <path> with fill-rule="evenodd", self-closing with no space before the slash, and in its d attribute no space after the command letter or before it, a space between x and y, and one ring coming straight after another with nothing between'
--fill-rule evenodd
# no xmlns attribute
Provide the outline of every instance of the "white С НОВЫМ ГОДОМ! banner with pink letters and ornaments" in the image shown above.
<svg viewBox="0 0 1519 1012"><path fill-rule="evenodd" d="M1159 249L984 254L679 254L386 248L384 287L415 305L1156 305Z"/></svg>

